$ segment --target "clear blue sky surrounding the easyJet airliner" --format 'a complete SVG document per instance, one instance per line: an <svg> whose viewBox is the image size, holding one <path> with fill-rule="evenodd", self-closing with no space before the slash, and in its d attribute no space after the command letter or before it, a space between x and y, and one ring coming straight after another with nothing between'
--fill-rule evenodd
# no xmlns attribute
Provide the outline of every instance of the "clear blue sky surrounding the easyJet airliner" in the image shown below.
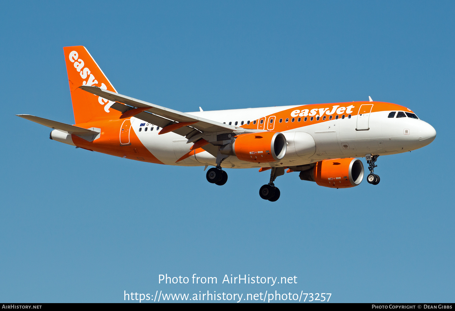
<svg viewBox="0 0 455 311"><path fill-rule="evenodd" d="M453 1L9 2L0 13L0 301L122 302L157 290L330 292L333 302L454 301ZM393 102L430 145L379 157L378 186L125 161L49 140L73 123L63 46L121 94L180 111ZM364 160L363 160L364 161ZM364 165L366 165L364 161ZM216 286L158 284L159 274ZM219 284L227 274L298 284ZM277 288L278 287L278 288Z"/></svg>

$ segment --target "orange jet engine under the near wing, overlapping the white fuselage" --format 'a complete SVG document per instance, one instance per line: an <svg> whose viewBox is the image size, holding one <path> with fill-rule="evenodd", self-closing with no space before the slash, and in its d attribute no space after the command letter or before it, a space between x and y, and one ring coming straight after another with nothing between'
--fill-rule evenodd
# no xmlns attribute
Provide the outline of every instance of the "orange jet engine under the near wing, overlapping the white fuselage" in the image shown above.
<svg viewBox="0 0 455 311"><path fill-rule="evenodd" d="M220 148L223 155L254 163L276 162L286 154L286 137L279 132L260 132L238 135Z"/></svg>

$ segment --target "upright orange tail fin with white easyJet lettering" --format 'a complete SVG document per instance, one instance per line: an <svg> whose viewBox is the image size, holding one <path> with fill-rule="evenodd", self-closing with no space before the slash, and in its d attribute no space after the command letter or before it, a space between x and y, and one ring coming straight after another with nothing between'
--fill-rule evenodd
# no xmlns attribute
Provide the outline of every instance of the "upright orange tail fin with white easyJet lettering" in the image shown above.
<svg viewBox="0 0 455 311"><path fill-rule="evenodd" d="M85 46L66 46L63 51L76 124L118 119L121 112L109 109L114 104L113 101L78 89L81 85L94 85L104 90L117 92Z"/></svg>

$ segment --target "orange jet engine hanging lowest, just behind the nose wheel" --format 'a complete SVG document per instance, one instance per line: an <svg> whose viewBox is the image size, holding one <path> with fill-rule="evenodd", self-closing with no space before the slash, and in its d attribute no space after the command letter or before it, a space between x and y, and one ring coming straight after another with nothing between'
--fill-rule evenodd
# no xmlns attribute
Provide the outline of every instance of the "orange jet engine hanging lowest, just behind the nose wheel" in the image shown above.
<svg viewBox="0 0 455 311"><path fill-rule="evenodd" d="M300 179L329 188L355 187L364 179L364 165L355 158L319 161L313 168L300 172Z"/></svg>

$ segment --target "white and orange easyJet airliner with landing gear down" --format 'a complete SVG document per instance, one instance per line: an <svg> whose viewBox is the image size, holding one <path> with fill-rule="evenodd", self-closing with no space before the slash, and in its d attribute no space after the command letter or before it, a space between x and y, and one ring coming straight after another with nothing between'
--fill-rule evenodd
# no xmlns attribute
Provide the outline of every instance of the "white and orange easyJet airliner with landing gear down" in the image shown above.
<svg viewBox="0 0 455 311"><path fill-rule="evenodd" d="M180 112L117 93L84 46L63 48L74 125L33 115L52 140L121 158L177 166L214 166L207 181L222 186L222 168L271 169L261 198L277 201L275 178L300 172L319 186L349 188L374 174L378 156L430 144L435 129L401 105L373 101Z"/></svg>

